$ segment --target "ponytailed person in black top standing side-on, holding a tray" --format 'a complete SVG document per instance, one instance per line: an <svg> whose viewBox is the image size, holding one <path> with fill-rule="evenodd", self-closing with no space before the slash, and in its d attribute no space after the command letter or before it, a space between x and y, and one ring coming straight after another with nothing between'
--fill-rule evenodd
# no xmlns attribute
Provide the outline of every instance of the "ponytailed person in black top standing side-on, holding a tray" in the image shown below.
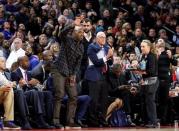
<svg viewBox="0 0 179 131"><path fill-rule="evenodd" d="M145 60L145 70L134 71L141 74L143 81L141 93L144 95L147 111L147 128L157 127L157 112L155 96L159 85L158 81L158 61L155 54L154 45L149 40L143 40L141 43L142 60Z"/></svg>

